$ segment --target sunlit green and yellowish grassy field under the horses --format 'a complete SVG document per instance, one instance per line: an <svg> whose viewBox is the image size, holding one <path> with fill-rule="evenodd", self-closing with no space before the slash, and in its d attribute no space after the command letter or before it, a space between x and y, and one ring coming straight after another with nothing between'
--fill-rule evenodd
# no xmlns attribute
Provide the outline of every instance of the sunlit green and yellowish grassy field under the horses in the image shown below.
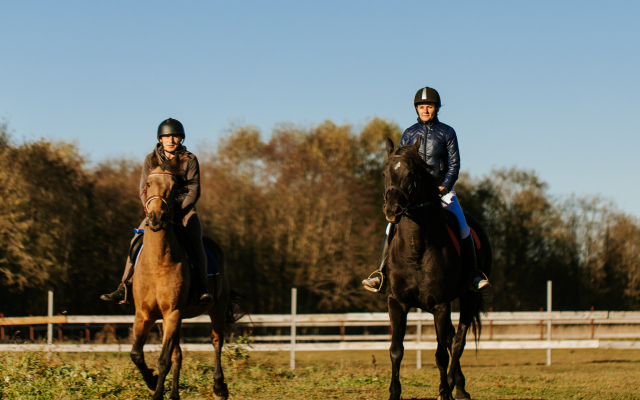
<svg viewBox="0 0 640 400"><path fill-rule="evenodd" d="M301 352L290 371L288 353L228 352L224 360L231 399L387 399L388 352ZM375 357L375 364L373 358ZM155 365L157 353L147 354ZM183 399L212 398L213 361L185 353ZM405 354L404 399L435 399L434 355ZM640 399L640 351L467 351L463 371L473 399ZM168 387L168 386L167 386ZM146 399L128 354L0 354L0 399Z"/></svg>

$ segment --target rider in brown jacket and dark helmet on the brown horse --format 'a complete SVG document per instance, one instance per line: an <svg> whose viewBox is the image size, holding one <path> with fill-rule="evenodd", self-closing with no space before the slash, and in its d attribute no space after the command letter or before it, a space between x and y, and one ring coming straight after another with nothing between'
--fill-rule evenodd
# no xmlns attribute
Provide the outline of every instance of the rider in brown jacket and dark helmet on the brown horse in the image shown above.
<svg viewBox="0 0 640 400"><path fill-rule="evenodd" d="M181 159L186 159L181 163L183 177L176 177L177 179L184 179L186 184L183 185L183 190L176 196L176 205L174 209L173 218L175 221L181 221L185 227L185 232L189 237L189 240L193 244L196 260L196 291L197 299L200 303L207 303L213 300L209 289L207 288L207 257L202 244L202 226L200 225L200 219L196 213L196 202L200 198L200 165L198 164L198 158L191 152L187 151L187 148L182 144L185 139L184 127L177 119L169 118L158 126L158 142L156 148L152 151L144 160L142 166L142 175L140 176L140 199L142 204L145 205L147 186L147 175L151 172L151 159L155 154L158 162L162 164L167 160L173 159L178 155ZM147 224L145 218L140 224L139 229L142 230ZM138 231L136 231L138 232ZM141 233L136 233L131 240L133 245L136 238ZM122 276L122 282L118 286L118 290L111 294L103 294L100 296L102 300L106 301L118 301L125 300L127 289L131 288L131 279L133 277L133 262L130 257L127 257L127 263ZM127 301L129 299L126 299Z"/></svg>

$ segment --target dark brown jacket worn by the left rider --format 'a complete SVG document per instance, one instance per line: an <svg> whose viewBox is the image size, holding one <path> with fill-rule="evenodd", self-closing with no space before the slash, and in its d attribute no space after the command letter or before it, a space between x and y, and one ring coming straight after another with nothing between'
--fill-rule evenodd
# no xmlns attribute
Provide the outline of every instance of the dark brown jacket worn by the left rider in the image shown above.
<svg viewBox="0 0 640 400"><path fill-rule="evenodd" d="M140 176L140 193L143 204L146 200L143 198L142 193L147 185L147 175L151 172L151 157L154 153L160 163L167 161L167 157L164 155L160 143L158 143L155 150L149 153L144 159L142 174ZM176 202L180 203L180 215L186 215L195 207L196 202L200 198L200 164L198 163L198 158L193 153L188 152L184 147L182 150L178 150L178 154L180 154L181 158L187 158L187 161L182 163L182 170L185 173L183 179L188 180L190 183L185 185L184 188L177 193L176 197Z"/></svg>

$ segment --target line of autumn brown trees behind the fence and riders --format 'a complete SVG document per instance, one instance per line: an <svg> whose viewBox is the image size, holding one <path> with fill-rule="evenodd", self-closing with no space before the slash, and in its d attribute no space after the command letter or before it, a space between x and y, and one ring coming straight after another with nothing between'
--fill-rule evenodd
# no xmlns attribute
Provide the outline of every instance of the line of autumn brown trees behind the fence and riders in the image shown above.
<svg viewBox="0 0 640 400"><path fill-rule="evenodd" d="M232 129L199 147L204 234L225 249L232 287L254 313L384 311L360 281L376 267L385 219L384 139L399 127L326 121L282 124L265 135ZM149 151L153 143L150 142ZM142 160L90 165L72 144L18 142L0 126L0 312L122 314L99 300L120 281L133 228ZM554 200L534 171L461 174L456 192L494 250L492 306L538 310L554 282L554 308L637 310L640 221L598 197Z"/></svg>

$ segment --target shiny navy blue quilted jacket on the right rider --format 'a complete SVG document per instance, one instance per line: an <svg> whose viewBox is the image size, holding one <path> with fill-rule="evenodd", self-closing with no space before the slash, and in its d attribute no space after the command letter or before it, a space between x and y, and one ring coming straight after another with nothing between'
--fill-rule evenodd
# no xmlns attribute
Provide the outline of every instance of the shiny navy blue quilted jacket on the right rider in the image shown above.
<svg viewBox="0 0 640 400"><path fill-rule="evenodd" d="M460 172L460 151L456 131L436 118L434 121L411 125L402 134L400 146L414 144L422 136L422 144L418 153L420 157L433 167L431 175L438 178L441 186L453 189Z"/></svg>

